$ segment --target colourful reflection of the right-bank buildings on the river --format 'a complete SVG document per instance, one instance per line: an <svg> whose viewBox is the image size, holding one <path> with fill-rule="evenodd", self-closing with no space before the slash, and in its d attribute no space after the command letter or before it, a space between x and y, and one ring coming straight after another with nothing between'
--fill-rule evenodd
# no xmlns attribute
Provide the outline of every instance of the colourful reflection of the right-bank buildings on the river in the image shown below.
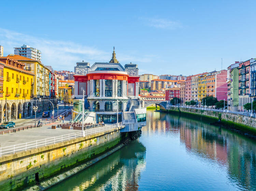
<svg viewBox="0 0 256 191"><path fill-rule="evenodd" d="M154 131L153 125L156 123L157 132L162 128L162 132L179 134L180 141L184 143L188 153L223 166L230 181L240 188L255 189L256 140L198 120L161 112L154 113L158 114L152 114L154 118L147 121L147 131ZM157 117L161 124L158 124Z"/></svg>

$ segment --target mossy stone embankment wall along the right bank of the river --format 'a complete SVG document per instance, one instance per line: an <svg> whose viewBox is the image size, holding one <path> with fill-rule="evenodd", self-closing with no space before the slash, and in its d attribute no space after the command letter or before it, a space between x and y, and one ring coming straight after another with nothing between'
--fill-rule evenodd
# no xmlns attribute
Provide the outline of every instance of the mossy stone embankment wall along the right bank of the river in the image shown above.
<svg viewBox="0 0 256 191"><path fill-rule="evenodd" d="M246 116L241 116L237 114L231 114L227 112L217 112L210 110L201 110L194 108L185 107L170 107L170 109L165 109L161 107L161 110L166 112L174 112L187 117L195 117L203 120L207 120L209 123L216 123L220 121L224 125L232 128L237 128L242 131L250 131L256 135L256 119Z"/></svg>

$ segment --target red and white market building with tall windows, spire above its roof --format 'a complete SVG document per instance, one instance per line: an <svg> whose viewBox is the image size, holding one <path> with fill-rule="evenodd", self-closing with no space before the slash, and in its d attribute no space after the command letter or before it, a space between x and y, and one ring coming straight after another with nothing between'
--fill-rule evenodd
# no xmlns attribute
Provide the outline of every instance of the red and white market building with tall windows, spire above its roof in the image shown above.
<svg viewBox="0 0 256 191"><path fill-rule="evenodd" d="M123 67L116 59L114 49L109 63L96 62L90 66L82 62L76 65L74 105L80 103L77 99L82 99L84 92L85 108L94 112L96 122L116 123L118 111L119 122L129 118L145 123L146 110L140 109L137 64Z"/></svg>

